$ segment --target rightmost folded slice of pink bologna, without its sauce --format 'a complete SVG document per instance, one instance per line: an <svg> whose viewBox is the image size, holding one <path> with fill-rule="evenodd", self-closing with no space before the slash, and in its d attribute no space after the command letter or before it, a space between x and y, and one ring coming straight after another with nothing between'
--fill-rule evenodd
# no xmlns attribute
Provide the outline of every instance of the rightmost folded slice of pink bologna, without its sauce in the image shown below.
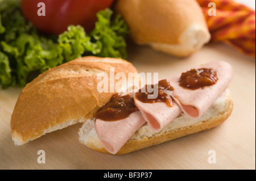
<svg viewBox="0 0 256 181"><path fill-rule="evenodd" d="M214 100L228 87L233 77L233 68L224 61L210 62L199 68L213 69L217 71L218 81L212 86L199 88L196 90L186 89L179 85L181 74L177 74L170 79L170 84L174 87L175 103L179 105L181 110L192 118L199 118L213 104Z"/></svg>

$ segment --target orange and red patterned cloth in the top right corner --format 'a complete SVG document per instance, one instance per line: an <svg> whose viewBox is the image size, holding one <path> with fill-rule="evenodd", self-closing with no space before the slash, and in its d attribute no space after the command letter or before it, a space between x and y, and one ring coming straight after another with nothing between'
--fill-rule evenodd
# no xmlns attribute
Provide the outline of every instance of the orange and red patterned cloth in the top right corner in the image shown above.
<svg viewBox="0 0 256 181"><path fill-rule="evenodd" d="M241 52L255 56L255 10L232 0L197 0L199 2L212 41L224 41ZM216 16L209 3L215 3Z"/></svg>

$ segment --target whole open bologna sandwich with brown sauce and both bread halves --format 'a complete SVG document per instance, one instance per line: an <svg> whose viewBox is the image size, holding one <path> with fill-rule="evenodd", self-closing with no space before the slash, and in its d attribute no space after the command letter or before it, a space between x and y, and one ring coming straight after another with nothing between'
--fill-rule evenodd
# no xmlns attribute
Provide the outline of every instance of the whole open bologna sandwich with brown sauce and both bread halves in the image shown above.
<svg viewBox="0 0 256 181"><path fill-rule="evenodd" d="M188 68L152 85L141 78L127 79L126 86L109 79L108 88L117 86L119 91L98 91L102 80L97 75L110 75L111 69L114 75L139 77L120 58L82 57L28 83L11 117L15 145L83 122L82 144L102 153L126 154L216 127L232 113L228 85L233 69L227 62Z"/></svg>

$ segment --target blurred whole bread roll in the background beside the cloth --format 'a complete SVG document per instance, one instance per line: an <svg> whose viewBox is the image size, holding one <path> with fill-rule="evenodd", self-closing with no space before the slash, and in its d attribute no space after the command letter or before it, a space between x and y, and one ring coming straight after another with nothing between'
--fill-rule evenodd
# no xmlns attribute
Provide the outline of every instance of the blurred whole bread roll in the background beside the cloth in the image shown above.
<svg viewBox="0 0 256 181"><path fill-rule="evenodd" d="M137 44L185 57L210 40L203 11L195 0L118 0L116 9Z"/></svg>

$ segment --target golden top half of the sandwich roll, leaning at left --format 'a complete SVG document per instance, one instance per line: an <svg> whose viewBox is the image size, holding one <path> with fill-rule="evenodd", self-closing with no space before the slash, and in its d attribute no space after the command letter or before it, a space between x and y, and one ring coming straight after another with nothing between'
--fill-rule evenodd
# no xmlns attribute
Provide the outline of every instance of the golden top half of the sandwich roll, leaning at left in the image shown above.
<svg viewBox="0 0 256 181"><path fill-rule="evenodd" d="M92 117L114 94L97 91L97 73L109 75L110 68L114 74L137 74L130 62L120 58L90 56L49 69L28 83L11 116L15 145Z"/></svg>

